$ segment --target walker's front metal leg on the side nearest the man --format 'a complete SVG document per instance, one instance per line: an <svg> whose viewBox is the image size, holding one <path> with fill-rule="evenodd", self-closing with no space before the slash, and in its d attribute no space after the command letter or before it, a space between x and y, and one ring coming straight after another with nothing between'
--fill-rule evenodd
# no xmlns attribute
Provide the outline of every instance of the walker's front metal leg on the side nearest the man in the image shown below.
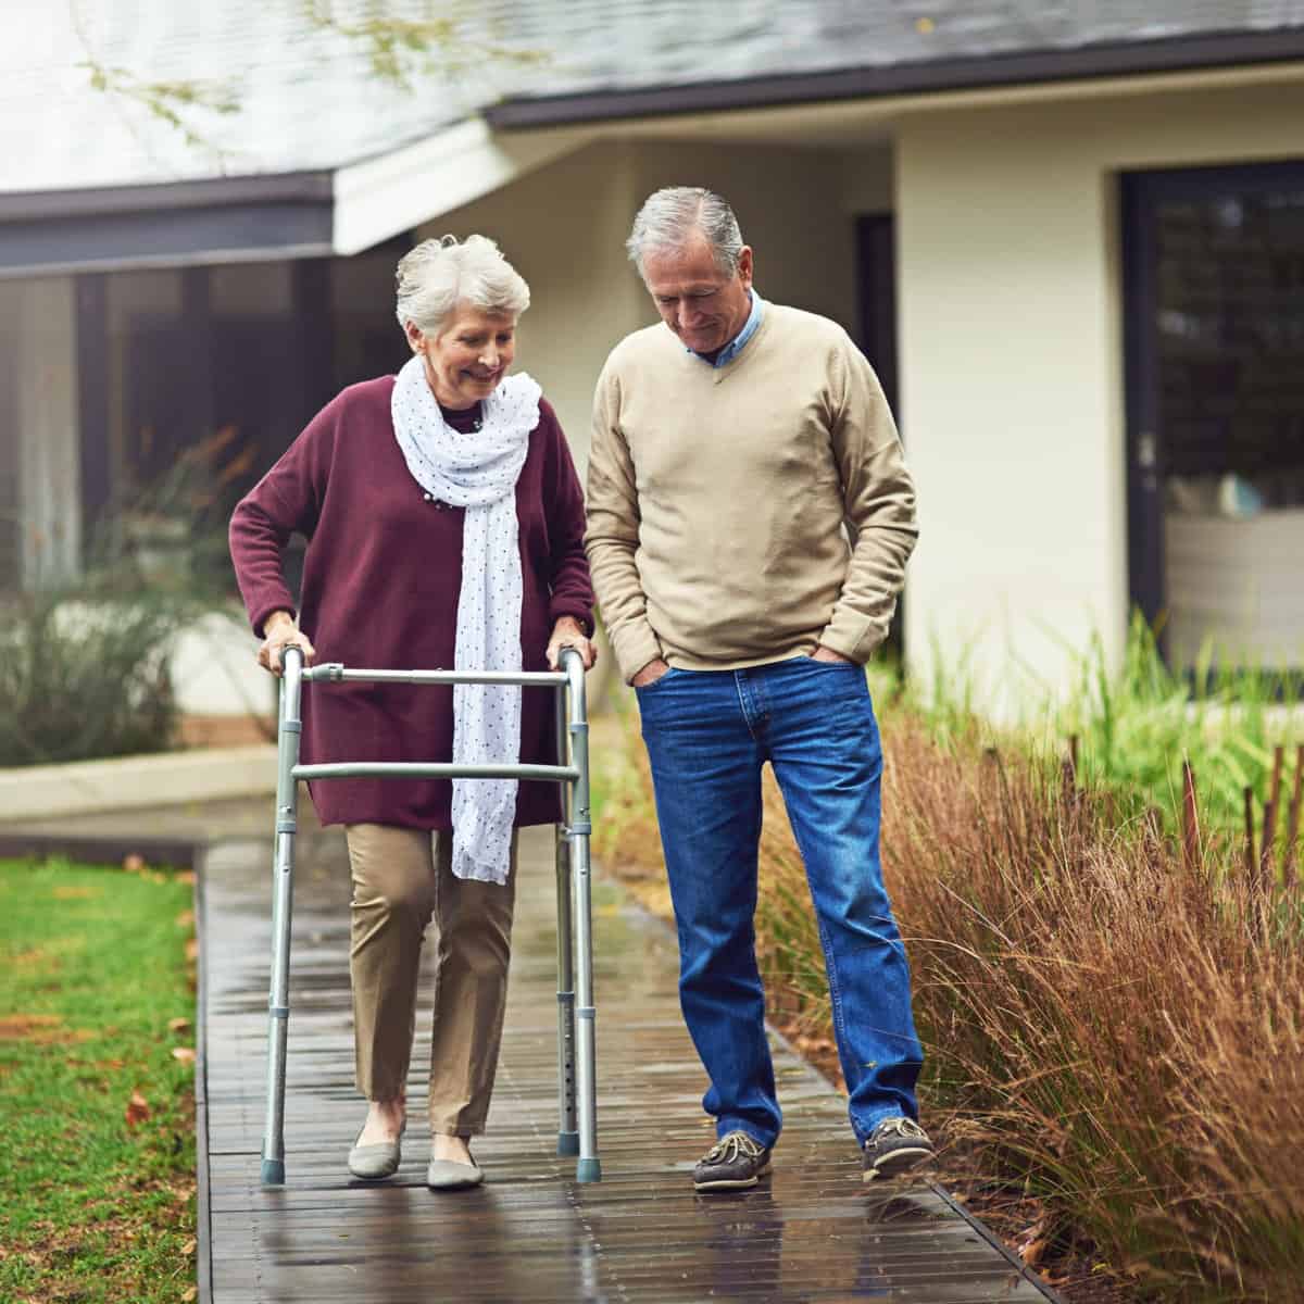
<svg viewBox="0 0 1304 1304"><path fill-rule="evenodd" d="M601 1181L597 1158L597 1072L593 1008L593 895L589 875L588 719L584 708L584 669L579 657L569 661L571 762L575 780L570 820L570 862L575 895L578 1018L576 1095L579 1114L579 1159L576 1181Z"/></svg>

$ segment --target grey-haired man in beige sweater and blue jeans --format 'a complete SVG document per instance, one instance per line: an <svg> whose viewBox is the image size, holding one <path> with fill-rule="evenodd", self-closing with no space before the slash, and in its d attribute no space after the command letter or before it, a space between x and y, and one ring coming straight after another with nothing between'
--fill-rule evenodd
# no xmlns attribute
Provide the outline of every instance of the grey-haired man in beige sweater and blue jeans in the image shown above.
<svg viewBox="0 0 1304 1304"><path fill-rule="evenodd" d="M585 546L638 692L679 998L711 1078L717 1144L694 1185L754 1185L782 1123L754 932L767 760L806 865L865 1180L896 1176L932 1145L862 666L917 535L901 443L846 333L752 289L722 198L656 192L627 248L661 325L599 379Z"/></svg>

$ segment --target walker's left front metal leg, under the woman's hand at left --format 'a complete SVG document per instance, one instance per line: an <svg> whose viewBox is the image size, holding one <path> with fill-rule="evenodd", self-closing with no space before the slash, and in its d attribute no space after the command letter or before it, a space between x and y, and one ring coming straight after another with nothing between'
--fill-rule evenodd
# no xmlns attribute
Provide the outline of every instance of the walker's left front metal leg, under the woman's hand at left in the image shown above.
<svg viewBox="0 0 1304 1304"><path fill-rule="evenodd" d="M299 793L299 695L303 656L286 653L276 729L276 832L271 895L271 990L267 998L267 1116L262 1134L262 1184L286 1181L286 1033L289 1021L289 926L293 911L295 833Z"/></svg>

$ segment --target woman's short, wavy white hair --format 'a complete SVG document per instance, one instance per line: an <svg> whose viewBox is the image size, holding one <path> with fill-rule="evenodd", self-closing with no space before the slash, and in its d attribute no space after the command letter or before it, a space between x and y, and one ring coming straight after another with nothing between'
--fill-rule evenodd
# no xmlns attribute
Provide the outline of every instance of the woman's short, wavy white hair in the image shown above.
<svg viewBox="0 0 1304 1304"><path fill-rule="evenodd" d="M395 280L399 325L422 335L438 335L458 304L502 317L529 306L529 286L488 236L422 240L399 258Z"/></svg>

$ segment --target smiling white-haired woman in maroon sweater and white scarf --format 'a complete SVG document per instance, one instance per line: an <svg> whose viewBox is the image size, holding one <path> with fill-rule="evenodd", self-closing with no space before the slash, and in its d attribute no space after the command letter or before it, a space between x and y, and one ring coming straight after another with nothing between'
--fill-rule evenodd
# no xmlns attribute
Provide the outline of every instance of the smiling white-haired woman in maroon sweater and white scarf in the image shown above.
<svg viewBox="0 0 1304 1304"><path fill-rule="evenodd" d="M413 357L339 394L236 509L231 556L258 660L370 668L541 670L562 647L593 662L580 486L557 415L509 376L529 289L484 236L426 240L398 266ZM309 540L296 613L280 570ZM505 686L340 685L304 699L305 762L553 759L552 702ZM417 969L434 922L432 1188L471 1187L507 990L516 829L558 818L550 784L331 780L323 824L352 867L357 1086L370 1102L348 1155L398 1170Z"/></svg>

